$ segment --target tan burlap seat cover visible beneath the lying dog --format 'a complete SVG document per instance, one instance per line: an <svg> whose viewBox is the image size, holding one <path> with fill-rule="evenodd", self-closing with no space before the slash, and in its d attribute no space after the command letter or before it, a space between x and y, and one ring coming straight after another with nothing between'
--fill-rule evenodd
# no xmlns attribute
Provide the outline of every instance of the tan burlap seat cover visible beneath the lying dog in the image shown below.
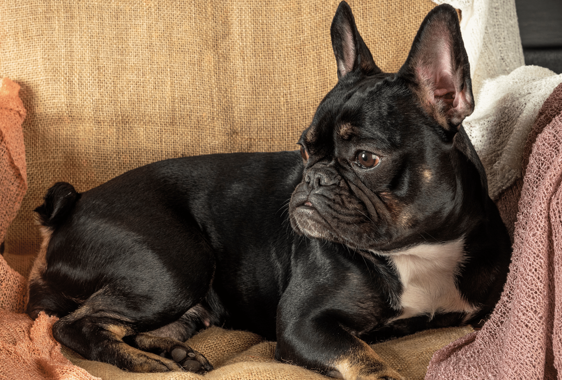
<svg viewBox="0 0 562 380"><path fill-rule="evenodd" d="M386 361L408 380L425 377L433 352L457 338L473 332L470 326L421 331L410 336L371 345ZM113 365L86 360L67 347L62 353L72 364L84 368L103 380L314 380L327 377L296 365L275 361L275 342L264 341L251 332L210 327L193 336L187 344L201 352L215 369L205 376L194 373L132 373Z"/></svg>

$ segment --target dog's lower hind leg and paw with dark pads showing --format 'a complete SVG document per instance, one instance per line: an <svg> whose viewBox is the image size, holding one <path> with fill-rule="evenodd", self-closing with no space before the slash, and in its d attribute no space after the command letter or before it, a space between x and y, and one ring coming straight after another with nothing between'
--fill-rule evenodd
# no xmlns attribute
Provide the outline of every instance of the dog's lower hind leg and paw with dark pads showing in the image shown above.
<svg viewBox="0 0 562 380"><path fill-rule="evenodd" d="M110 291L96 292L80 308L59 319L53 325L56 340L90 360L132 372L184 369L203 373L212 369L205 356L182 342L139 333L139 321L125 317L128 313L120 312L124 303L115 302L115 296L107 293Z"/></svg>

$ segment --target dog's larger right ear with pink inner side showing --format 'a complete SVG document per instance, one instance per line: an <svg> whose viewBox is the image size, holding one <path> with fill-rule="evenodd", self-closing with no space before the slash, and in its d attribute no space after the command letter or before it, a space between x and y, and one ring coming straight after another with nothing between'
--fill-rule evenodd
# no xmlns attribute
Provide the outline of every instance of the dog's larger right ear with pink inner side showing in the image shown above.
<svg viewBox="0 0 562 380"><path fill-rule="evenodd" d="M428 13L398 75L447 130L456 130L474 111L470 64L455 8L441 4Z"/></svg>

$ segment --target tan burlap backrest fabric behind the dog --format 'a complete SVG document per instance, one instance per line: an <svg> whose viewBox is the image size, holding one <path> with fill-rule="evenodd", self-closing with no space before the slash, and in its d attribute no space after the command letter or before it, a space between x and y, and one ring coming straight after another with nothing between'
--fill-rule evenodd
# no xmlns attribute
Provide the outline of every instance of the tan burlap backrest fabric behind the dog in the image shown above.
<svg viewBox="0 0 562 380"><path fill-rule="evenodd" d="M375 61L396 71L430 0L349 2ZM170 157L296 149L337 82L338 1L11 0L0 75L21 85L28 184L6 237L27 274L32 210L57 181L88 190Z"/></svg>

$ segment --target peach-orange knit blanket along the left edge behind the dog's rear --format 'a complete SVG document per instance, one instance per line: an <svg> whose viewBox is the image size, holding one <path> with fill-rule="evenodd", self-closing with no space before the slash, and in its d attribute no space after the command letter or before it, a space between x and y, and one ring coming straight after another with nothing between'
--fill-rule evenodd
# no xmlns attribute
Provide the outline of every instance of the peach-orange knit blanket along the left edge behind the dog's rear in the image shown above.
<svg viewBox="0 0 562 380"><path fill-rule="evenodd" d="M15 218L27 190L24 136L25 109L20 86L8 78L0 81L0 243ZM0 379L96 380L72 365L52 337L53 318L41 315L31 321L22 313L27 282L0 256Z"/></svg>

